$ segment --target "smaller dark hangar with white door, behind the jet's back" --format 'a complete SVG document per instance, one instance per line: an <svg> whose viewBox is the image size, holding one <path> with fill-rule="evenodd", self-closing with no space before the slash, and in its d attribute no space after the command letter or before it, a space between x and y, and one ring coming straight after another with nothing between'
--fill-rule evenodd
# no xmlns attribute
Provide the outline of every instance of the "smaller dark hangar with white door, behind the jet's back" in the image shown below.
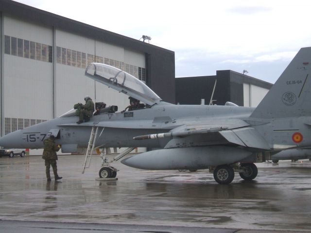
<svg viewBox="0 0 311 233"><path fill-rule="evenodd" d="M209 104L214 89L213 104L226 101L239 106L256 107L272 87L272 83L253 78L232 70L217 70L216 75L176 78L176 102Z"/></svg>

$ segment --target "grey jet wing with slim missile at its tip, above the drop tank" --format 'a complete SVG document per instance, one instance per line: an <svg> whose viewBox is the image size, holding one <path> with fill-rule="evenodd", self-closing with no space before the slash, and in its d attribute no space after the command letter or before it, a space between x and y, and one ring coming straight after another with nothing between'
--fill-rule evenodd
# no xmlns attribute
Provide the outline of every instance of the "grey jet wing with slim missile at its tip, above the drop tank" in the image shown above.
<svg viewBox="0 0 311 233"><path fill-rule="evenodd" d="M254 128L240 119L216 120L212 124L185 124L168 133L134 137L136 140L160 138L171 138L165 149L235 144L236 146L270 150L266 140Z"/></svg>

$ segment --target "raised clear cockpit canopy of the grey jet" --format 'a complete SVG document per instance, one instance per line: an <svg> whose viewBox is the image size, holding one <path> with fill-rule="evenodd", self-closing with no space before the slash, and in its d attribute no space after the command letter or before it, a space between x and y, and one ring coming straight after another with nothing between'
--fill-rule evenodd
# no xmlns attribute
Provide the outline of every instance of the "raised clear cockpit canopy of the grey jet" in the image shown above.
<svg viewBox="0 0 311 233"><path fill-rule="evenodd" d="M85 75L146 104L154 105L161 101L145 83L116 67L91 63L86 67Z"/></svg>

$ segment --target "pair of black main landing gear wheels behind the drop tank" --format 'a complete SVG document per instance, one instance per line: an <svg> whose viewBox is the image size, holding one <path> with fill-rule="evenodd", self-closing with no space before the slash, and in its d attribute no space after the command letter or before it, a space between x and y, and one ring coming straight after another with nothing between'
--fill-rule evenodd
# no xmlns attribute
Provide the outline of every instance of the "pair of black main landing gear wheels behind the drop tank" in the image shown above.
<svg viewBox="0 0 311 233"><path fill-rule="evenodd" d="M255 164L241 163L240 165L219 165L209 169L213 172L214 179L217 183L228 184L234 179L234 172L239 172L241 178L245 181L251 181L256 178L258 169Z"/></svg>

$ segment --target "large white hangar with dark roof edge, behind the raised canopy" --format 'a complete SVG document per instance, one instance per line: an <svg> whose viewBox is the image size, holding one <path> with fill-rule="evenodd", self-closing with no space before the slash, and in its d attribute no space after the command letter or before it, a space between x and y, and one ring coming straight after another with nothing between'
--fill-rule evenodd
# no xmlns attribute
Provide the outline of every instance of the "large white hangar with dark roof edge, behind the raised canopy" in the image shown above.
<svg viewBox="0 0 311 233"><path fill-rule="evenodd" d="M1 136L60 116L85 96L124 109L127 96L84 75L91 62L121 68L175 102L173 51L11 0L0 0L0 54Z"/></svg>

